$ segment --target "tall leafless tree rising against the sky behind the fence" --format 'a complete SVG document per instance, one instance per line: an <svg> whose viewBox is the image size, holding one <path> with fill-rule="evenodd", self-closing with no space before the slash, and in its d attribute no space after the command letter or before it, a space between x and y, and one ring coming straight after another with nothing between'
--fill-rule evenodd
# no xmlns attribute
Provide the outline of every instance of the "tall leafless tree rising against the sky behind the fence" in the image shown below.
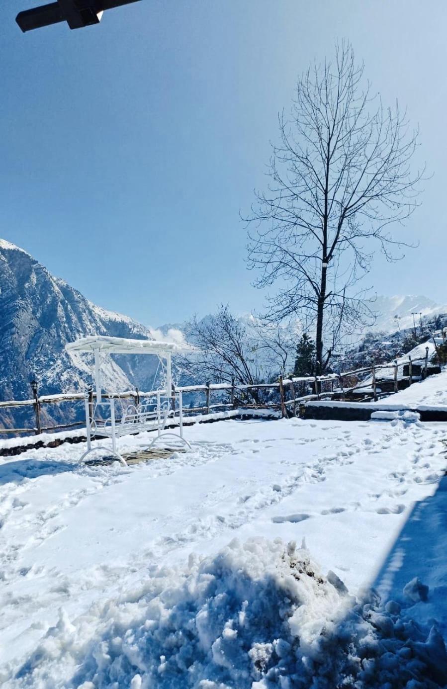
<svg viewBox="0 0 447 689"><path fill-rule="evenodd" d="M349 43L335 61L314 65L298 80L291 117L280 115L268 192L258 192L249 229L249 267L257 287L279 285L267 318L298 314L315 332L322 373L342 333L371 324L374 313L355 287L380 248L388 260L408 246L388 232L417 205L410 159L417 147L406 115L384 108L363 84ZM397 254L394 250L397 249Z"/></svg>

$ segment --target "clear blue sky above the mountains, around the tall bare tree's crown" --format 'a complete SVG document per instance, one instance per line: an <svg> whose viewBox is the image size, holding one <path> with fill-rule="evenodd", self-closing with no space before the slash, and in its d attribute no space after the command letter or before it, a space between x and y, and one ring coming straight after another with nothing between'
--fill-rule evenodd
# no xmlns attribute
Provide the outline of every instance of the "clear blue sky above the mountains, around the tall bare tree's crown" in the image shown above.
<svg viewBox="0 0 447 689"><path fill-rule="evenodd" d="M377 260L371 285L447 301L444 0L142 0L22 34L37 4L0 7L1 237L146 325L260 308L239 210L267 183L296 76L347 38L433 172L398 230L419 249Z"/></svg>

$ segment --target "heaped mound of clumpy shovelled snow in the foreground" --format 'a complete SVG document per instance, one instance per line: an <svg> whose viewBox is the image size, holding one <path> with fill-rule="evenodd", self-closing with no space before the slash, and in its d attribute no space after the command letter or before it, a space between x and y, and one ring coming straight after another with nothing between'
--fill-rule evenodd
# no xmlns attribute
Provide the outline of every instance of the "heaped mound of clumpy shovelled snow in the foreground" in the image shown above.
<svg viewBox="0 0 447 689"><path fill-rule="evenodd" d="M139 590L74 621L61 610L9 687L432 689L447 681L437 628L358 603L306 548L233 540L185 570L149 568Z"/></svg>

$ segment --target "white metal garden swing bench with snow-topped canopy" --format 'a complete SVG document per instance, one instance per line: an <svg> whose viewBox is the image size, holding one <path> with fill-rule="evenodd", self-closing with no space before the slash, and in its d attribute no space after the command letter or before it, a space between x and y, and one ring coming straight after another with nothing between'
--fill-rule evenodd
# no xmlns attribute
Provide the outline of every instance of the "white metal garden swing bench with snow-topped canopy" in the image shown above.
<svg viewBox="0 0 447 689"><path fill-rule="evenodd" d="M96 387L96 402L92 408L92 401L88 393L85 395L85 426L87 430L87 450L81 461L94 451L101 450L108 455L114 455L122 464L127 466L123 455L118 452L117 440L125 435L134 435L145 431L156 431L156 436L149 444L148 450L155 445L167 449L191 449L189 442L183 438L183 407L181 395L178 409L178 433L166 431L165 426L172 412L171 404L171 354L189 349L187 346L174 342L158 342L157 340L129 340L126 338L112 338L108 336L89 336L69 342L65 345L67 352L94 353L94 379ZM155 354L165 358L166 389L156 390L143 395L140 404L128 404L122 408L121 419L116 418L116 399L118 393L103 395L101 391L101 353L107 354ZM104 397L104 399L103 399ZM94 438L110 438L112 448L103 445L92 446ZM169 439L169 440L168 440Z"/></svg>

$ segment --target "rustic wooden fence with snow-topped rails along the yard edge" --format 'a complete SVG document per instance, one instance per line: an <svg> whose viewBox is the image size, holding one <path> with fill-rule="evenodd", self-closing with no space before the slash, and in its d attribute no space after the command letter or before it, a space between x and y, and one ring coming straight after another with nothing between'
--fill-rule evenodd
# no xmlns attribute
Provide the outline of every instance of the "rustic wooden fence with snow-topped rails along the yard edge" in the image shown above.
<svg viewBox="0 0 447 689"><path fill-rule="evenodd" d="M418 362L422 362L421 366L422 378L427 375L428 369L428 347L426 347L426 354L422 358L413 359L408 356L408 363L404 358L394 360L392 363L387 364L371 364L371 367L363 367L361 369L355 369L353 371L343 371L342 373L329 373L326 376L299 376L291 378L282 378L280 376L278 382L271 383L253 383L253 384L238 384L234 380L231 383L205 383L200 385L184 385L175 386L172 390L171 396L171 415L176 414L178 409L183 409L183 416L188 415L198 415L198 414L209 414L211 411L216 409L236 409L236 407L244 407L245 409L275 409L280 410L282 416L286 416L289 407L292 407L293 414L296 415L299 409L299 405L311 400L322 400L324 398L338 397L342 400L345 399L346 395L353 395L357 393L364 393L364 398L362 401L375 400L377 402L378 396L382 395L382 390L377 385L380 379L377 373L380 375L382 369L393 369L393 379L394 380L393 391L397 392L398 381L408 380L408 384L411 384L415 380L419 380L421 376L413 375L412 367L414 365L419 365ZM408 366L408 376L399 376L399 367ZM351 387L344 387L344 379L354 378L358 376L364 376L371 373L372 380L368 381L357 381ZM330 389L324 391L322 389L322 384L330 384ZM306 395L296 395L295 385L304 384L311 386L313 389L312 394ZM337 384L334 387L334 384ZM83 426L85 422L83 420L76 421L68 424L57 424L54 426L43 426L41 424L41 407L43 404L60 404L61 402L77 402L85 400L85 393L72 392L72 393L60 393L56 395L41 395L37 394L37 383L32 381L32 391L34 398L29 400L6 400L0 401L0 409L11 409L14 407L30 407L34 408L34 414L36 418L36 425L32 428L2 428L0 429L0 434L21 434L21 433L43 433L46 431L60 431L62 429L75 428L76 426ZM267 400L265 402L256 401L256 395L253 395L253 391L277 391L278 401ZM183 406L183 394L184 393L194 393L203 392L205 393L205 404L200 407L184 407ZM223 392L229 395L229 400L227 402L218 401L211 404L211 393ZM239 393L245 393L245 399L240 398ZM383 394L389 394L388 391ZM249 393L247 395L247 393ZM249 396L253 401L249 401ZM135 406L138 406L139 402L143 398L149 398L157 394L157 391L141 392L136 388L134 391L125 391L123 393L108 394L107 397L120 399L120 400L132 400ZM93 404L95 398L95 393L90 389L89 393L90 404ZM243 395L242 395L243 396ZM382 395L383 396L383 395ZM117 420L118 422L119 420Z"/></svg>

